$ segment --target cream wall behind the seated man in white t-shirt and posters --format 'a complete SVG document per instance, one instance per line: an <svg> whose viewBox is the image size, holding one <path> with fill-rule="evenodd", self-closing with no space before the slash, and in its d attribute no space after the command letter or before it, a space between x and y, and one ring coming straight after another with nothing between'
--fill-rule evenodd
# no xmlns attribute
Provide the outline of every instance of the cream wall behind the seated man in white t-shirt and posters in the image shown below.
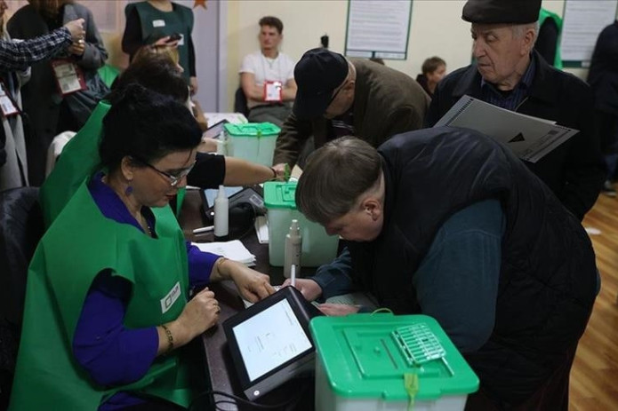
<svg viewBox="0 0 618 411"><path fill-rule="evenodd" d="M562 15L564 3L543 0L542 5ZM229 108L238 86L237 67L245 54L259 47L258 20L262 16L274 15L284 22L282 51L295 60L304 51L318 47L325 33L330 36L331 50L344 50L347 0L229 0L227 4ZM421 71L422 61L433 55L445 59L448 70L470 64L470 23L461 20L463 4L465 0L413 0L407 59L386 60L387 66L415 76ZM582 77L586 74L583 69L568 71Z"/></svg>

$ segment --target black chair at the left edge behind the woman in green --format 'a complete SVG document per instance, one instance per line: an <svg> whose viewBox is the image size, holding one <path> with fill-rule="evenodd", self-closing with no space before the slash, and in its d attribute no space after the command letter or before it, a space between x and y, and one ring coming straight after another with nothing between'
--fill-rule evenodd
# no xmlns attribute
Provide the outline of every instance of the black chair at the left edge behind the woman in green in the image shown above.
<svg viewBox="0 0 618 411"><path fill-rule="evenodd" d="M11 395L28 264L43 233L38 188L0 193L0 409Z"/></svg>

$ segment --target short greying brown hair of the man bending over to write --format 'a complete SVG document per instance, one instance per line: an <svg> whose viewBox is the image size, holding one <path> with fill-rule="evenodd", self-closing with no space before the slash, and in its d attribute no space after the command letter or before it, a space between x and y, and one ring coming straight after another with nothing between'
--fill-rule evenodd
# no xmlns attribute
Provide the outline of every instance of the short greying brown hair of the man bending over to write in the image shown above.
<svg viewBox="0 0 618 411"><path fill-rule="evenodd" d="M373 146L351 136L337 138L309 156L296 187L296 207L327 225L353 209L380 177L381 156Z"/></svg>

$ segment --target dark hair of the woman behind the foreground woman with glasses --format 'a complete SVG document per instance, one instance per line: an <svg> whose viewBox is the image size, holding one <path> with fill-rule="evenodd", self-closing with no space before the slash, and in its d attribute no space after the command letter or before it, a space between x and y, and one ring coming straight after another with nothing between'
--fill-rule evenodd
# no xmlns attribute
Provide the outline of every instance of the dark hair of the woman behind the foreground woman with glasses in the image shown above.
<svg viewBox="0 0 618 411"><path fill-rule="evenodd" d="M138 83L149 90L170 96L184 103L189 99L189 86L176 64L165 54L148 53L135 59L112 84L108 101L113 105L119 94L132 83Z"/></svg>

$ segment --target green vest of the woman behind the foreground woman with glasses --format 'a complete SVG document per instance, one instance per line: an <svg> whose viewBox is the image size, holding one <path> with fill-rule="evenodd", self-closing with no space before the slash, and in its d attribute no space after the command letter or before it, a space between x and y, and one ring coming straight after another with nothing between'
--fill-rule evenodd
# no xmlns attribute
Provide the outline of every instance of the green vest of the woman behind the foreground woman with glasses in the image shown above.
<svg viewBox="0 0 618 411"><path fill-rule="evenodd" d="M100 168L99 143L103 117L111 106L100 101L92 115L67 146L64 146L52 173L45 178L39 192L46 227L52 225L68 201L86 178ZM176 198L176 216L180 217L185 189L181 188Z"/></svg>

